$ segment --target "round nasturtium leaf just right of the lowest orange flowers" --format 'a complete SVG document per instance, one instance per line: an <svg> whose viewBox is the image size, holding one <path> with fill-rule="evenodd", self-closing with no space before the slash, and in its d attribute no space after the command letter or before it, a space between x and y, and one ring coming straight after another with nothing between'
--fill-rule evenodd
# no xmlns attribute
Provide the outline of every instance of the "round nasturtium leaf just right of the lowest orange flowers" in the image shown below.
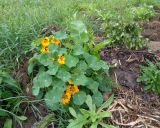
<svg viewBox="0 0 160 128"><path fill-rule="evenodd" d="M73 95L73 102L76 105L82 105L85 102L86 97L87 97L86 93L83 91L80 91L80 92Z"/></svg>

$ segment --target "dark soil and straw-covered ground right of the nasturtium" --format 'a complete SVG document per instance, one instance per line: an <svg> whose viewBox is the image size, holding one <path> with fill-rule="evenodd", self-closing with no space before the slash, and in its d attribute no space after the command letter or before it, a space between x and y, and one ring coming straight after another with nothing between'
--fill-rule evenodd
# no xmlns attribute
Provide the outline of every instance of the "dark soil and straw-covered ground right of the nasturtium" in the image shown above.
<svg viewBox="0 0 160 128"><path fill-rule="evenodd" d="M144 85L137 82L140 65L146 63L145 59L156 62L156 54L149 53L147 49L118 48L102 49L100 54L107 63L116 65L112 69L112 76L117 89L113 104L108 109L112 116L107 119L107 123L120 128L159 128L160 97L155 93L144 92Z"/></svg>

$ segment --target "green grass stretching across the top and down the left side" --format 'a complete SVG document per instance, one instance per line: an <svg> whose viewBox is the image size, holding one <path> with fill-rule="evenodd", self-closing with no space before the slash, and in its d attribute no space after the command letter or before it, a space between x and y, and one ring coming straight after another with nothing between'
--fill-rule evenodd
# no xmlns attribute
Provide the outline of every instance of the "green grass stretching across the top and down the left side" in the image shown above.
<svg viewBox="0 0 160 128"><path fill-rule="evenodd" d="M50 24L66 28L75 14L93 27L95 10L124 14L123 10L138 4L155 5L157 0L1 0L0 67L14 69L23 61L30 43ZM88 11L84 15L82 11ZM118 10L118 11L117 11ZM119 11L121 10L121 11ZM98 29L98 28L96 28Z"/></svg>

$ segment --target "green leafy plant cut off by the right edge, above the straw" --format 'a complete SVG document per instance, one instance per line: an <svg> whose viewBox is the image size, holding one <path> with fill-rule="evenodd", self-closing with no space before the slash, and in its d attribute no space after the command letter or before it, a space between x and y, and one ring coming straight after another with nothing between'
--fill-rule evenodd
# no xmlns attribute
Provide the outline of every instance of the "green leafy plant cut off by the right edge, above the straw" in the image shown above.
<svg viewBox="0 0 160 128"><path fill-rule="evenodd" d="M160 94L160 62L153 64L147 60L147 65L141 66L141 75L138 78L138 82L146 85L145 90Z"/></svg>

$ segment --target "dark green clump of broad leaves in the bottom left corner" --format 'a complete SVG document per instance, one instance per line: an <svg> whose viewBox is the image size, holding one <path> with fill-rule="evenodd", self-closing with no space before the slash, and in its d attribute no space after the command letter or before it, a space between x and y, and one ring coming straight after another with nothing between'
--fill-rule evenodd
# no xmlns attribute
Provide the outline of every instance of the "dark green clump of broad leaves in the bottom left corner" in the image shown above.
<svg viewBox="0 0 160 128"><path fill-rule="evenodd" d="M0 117L6 119L3 124L4 128L12 128L13 119L22 127L21 121L27 119L25 116L17 115L21 111L21 94L22 91L17 81L0 70Z"/></svg>

